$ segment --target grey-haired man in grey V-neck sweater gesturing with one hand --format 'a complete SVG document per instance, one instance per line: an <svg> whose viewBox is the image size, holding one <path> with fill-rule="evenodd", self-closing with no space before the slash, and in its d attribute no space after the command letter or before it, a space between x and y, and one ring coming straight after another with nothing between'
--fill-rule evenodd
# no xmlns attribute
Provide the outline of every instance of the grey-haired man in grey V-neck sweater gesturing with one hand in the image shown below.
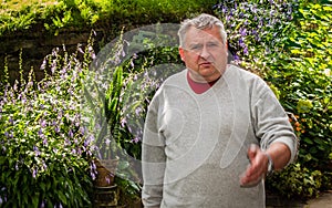
<svg viewBox="0 0 332 208"><path fill-rule="evenodd" d="M297 138L259 76L227 64L222 22L183 22L186 69L156 92L143 137L145 207L264 207L266 175L291 163Z"/></svg>

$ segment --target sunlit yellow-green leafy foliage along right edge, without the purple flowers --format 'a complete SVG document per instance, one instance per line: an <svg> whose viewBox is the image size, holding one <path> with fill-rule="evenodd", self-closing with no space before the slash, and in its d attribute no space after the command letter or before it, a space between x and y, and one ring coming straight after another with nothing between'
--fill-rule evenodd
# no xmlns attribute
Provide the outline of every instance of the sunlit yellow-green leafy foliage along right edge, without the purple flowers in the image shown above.
<svg viewBox="0 0 332 208"><path fill-rule="evenodd" d="M281 91L281 102L299 116L299 162L309 169L324 169L332 153L332 18L330 6L301 2L290 30L286 55L272 64L268 80ZM301 52L300 52L301 51ZM282 73L280 73L280 71Z"/></svg>

